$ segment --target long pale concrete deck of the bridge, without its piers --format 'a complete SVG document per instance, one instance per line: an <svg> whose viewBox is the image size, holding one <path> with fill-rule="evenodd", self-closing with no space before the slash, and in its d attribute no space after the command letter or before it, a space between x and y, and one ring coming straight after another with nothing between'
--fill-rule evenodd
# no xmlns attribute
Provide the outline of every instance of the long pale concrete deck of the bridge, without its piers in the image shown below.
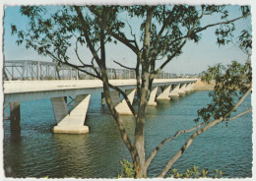
<svg viewBox="0 0 256 181"><path fill-rule="evenodd" d="M156 79L154 81L154 87L177 85L196 81L196 79ZM109 83L122 90L136 89L136 80L110 80ZM99 80L5 81L4 101L20 102L40 98L91 94L102 91L102 82Z"/></svg>

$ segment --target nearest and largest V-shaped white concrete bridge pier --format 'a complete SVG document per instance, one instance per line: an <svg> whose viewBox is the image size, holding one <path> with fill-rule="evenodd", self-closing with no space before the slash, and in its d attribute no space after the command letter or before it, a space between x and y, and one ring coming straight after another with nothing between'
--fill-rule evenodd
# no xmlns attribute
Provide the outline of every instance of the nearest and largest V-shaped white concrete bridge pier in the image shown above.
<svg viewBox="0 0 256 181"><path fill-rule="evenodd" d="M74 105L68 113L67 103L64 97L51 98L57 126L54 133L85 134L89 133L89 127L84 126L91 94L77 95Z"/></svg>

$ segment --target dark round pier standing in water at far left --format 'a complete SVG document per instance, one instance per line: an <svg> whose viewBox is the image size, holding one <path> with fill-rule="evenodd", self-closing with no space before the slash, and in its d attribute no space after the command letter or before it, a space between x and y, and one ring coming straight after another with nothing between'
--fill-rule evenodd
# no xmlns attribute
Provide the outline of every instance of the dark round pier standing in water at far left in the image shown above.
<svg viewBox="0 0 256 181"><path fill-rule="evenodd" d="M20 102L10 102L11 132L21 132L21 107Z"/></svg>

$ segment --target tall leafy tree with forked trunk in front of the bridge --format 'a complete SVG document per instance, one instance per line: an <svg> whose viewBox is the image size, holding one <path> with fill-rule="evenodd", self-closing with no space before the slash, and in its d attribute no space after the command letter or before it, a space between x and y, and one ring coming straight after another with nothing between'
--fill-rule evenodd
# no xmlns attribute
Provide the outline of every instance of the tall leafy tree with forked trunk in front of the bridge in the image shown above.
<svg viewBox="0 0 256 181"><path fill-rule="evenodd" d="M216 104L211 105L217 108L207 108L199 111L199 118L202 117L204 122L190 130L178 131L174 136L163 140L146 159L144 136L146 109L153 81L157 74L160 73L167 63L182 53L182 48L187 41L198 42L202 38L200 32L203 30L217 27L216 34L218 36L217 42L219 45L230 42L228 37L231 35L232 31L235 30L233 22L248 17L250 15L250 9L248 7L241 7L241 16L232 20L227 20L228 11L225 9L225 6L206 5L200 7L181 5L129 7L64 6L60 7L59 10L51 16L48 16L46 12L47 9L45 7L28 6L21 8L21 13L29 18L30 29L17 30L16 26L12 25L12 32L18 35L18 45L25 43L27 48L33 48L38 54L50 56L58 63L70 65L102 81L109 112L118 126L124 144L131 153L135 165L135 177L137 178L147 177L148 167L164 143L171 141L181 133L189 133L197 130L181 150L169 159L159 175L159 177L164 177L172 164L187 150L198 135L207 131L217 123L226 120L230 113L235 110L244 97L250 92L250 88L245 88L243 85L234 85L233 87L226 87L225 85L221 88L217 87L217 91L215 92L226 91L226 89L229 90L233 88L232 93L226 94L226 99L228 100L227 105L225 102L219 102L217 100ZM139 36L134 33L129 21L119 18L122 14L126 14L129 19L138 19L142 22ZM219 22L206 26L201 25L201 21L204 17L213 15L219 16ZM125 29L130 29L130 34L127 34ZM246 42L245 39L247 39ZM70 57L67 54L68 49L72 45L72 41L76 43L74 51L81 63L79 66L70 63ZM108 42L116 43L117 41L130 48L137 57L135 67L127 67L115 61L115 63L121 67L135 70L136 72L139 102L137 111L133 108L125 92L112 86L108 81L105 46ZM84 48L90 49L93 57L91 63L86 63L89 61L79 55L78 44ZM247 48L251 47L251 42L248 41L246 33L244 33L244 44ZM163 60L163 63L157 67L157 61L160 59ZM233 71L244 70L244 73L246 72L248 76L251 74L250 71L248 72L247 70L249 67L248 64L246 64L245 67L235 64L227 70L229 72L231 72L232 69ZM94 73L84 68L91 68L94 70ZM216 72L216 70L217 69L214 68L214 72ZM218 76L223 76L223 73L224 72L220 72ZM223 79L229 78L233 77L225 76ZM236 82L243 78L244 77L237 78ZM232 82L229 84L233 85ZM246 85L247 84L249 83L246 82ZM234 92L237 88L242 90L241 93L244 94L236 104L230 103L233 101L228 98L235 95ZM122 117L114 108L110 96L110 89L119 91L123 95L133 113L136 124L134 143L132 143L126 133ZM217 95L213 95L214 98L215 96ZM222 109L222 103L224 103L225 109ZM215 118L215 120L212 121L211 118ZM199 121L199 119L197 119L197 121Z"/></svg>

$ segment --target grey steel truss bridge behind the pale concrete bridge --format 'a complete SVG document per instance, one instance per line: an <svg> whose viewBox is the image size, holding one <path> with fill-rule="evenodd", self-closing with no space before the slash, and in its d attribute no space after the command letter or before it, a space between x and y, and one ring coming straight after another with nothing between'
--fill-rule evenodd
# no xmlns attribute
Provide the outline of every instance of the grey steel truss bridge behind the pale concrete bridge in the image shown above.
<svg viewBox="0 0 256 181"><path fill-rule="evenodd" d="M84 70L93 74L91 68ZM107 68L109 79L135 79L134 70ZM177 78L175 74L161 72L157 79ZM58 65L53 62L34 60L6 60L4 61L4 80L94 80L82 71L67 65Z"/></svg>

